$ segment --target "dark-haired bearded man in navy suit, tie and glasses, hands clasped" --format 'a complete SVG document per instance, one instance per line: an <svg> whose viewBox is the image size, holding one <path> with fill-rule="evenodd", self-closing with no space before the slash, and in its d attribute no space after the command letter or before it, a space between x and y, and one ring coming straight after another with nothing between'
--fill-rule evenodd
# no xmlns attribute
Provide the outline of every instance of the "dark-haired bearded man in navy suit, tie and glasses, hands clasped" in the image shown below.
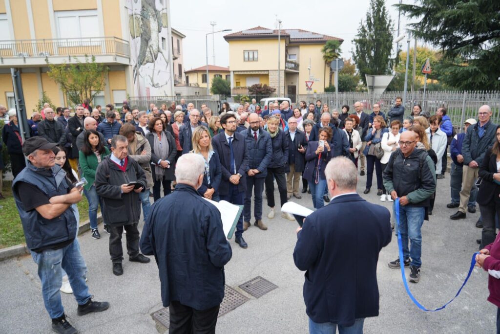
<svg viewBox="0 0 500 334"><path fill-rule="evenodd" d="M219 196L221 200L243 205L248 166L245 136L236 132L236 117L233 114L223 115L220 118L220 126L224 131L212 138L212 146L219 156L222 170L222 180L218 189ZM241 248L248 247L243 239L243 219L241 216L238 218L234 235L234 241Z"/></svg>

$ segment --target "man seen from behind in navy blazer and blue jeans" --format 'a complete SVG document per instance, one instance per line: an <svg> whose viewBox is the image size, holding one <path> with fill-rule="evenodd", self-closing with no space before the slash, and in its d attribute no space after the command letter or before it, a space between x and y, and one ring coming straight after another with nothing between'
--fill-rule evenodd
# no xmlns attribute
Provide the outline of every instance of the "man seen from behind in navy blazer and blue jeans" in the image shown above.
<svg viewBox="0 0 500 334"><path fill-rule="evenodd" d="M347 176L347 177L346 177ZM362 332L378 316L378 253L391 238L390 214L356 193L356 168L345 157L325 169L330 203L297 228L293 260L306 270L303 287L310 332Z"/></svg>

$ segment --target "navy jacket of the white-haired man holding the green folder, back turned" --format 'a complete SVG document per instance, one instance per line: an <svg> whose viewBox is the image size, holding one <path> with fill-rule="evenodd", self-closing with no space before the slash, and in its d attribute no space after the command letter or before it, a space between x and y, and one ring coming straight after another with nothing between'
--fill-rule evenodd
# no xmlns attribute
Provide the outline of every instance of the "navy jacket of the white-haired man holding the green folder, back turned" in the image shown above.
<svg viewBox="0 0 500 334"><path fill-rule="evenodd" d="M225 237L217 208L191 186L178 183L151 205L140 250L154 255L163 306L172 300L195 309L220 304L224 265L232 255Z"/></svg>

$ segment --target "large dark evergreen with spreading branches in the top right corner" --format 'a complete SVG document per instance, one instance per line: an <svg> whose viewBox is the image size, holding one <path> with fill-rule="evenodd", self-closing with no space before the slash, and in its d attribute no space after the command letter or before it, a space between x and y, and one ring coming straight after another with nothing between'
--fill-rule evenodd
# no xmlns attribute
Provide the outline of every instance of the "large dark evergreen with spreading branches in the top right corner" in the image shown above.
<svg viewBox="0 0 500 334"><path fill-rule="evenodd" d="M412 34L442 51L442 80L460 89L500 89L500 2L417 0L395 5Z"/></svg>

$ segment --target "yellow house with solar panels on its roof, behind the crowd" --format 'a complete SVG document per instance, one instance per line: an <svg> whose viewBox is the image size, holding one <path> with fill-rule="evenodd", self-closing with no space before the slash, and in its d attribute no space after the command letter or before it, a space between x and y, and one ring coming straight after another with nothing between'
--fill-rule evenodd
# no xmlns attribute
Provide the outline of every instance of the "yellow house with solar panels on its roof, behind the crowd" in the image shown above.
<svg viewBox="0 0 500 334"><path fill-rule="evenodd" d="M296 94L307 94L306 81L314 82L312 90L324 92L330 85L329 66L321 48L328 40L343 40L301 29L281 30L280 35L280 93L293 97L293 101ZM277 92L278 31L255 27L225 35L224 39L229 44L231 92L241 93L241 88L258 83Z"/></svg>

